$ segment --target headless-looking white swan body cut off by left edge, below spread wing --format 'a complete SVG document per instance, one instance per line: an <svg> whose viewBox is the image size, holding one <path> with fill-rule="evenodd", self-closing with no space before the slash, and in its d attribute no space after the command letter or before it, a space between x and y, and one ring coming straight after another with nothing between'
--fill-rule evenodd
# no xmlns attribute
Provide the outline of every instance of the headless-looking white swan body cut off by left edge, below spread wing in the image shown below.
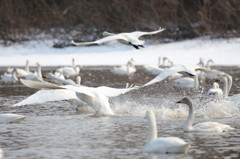
<svg viewBox="0 0 240 159"><path fill-rule="evenodd" d="M0 114L0 123L14 123L14 122L19 122L25 118L26 117L23 115L12 114L12 113Z"/></svg>

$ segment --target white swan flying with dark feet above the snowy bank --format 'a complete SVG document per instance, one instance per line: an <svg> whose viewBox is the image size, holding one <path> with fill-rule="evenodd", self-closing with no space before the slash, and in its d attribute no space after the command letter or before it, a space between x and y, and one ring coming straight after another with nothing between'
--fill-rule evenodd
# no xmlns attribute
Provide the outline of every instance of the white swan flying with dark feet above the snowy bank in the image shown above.
<svg viewBox="0 0 240 159"><path fill-rule="evenodd" d="M139 40L138 38L143 36L143 35L154 35L157 33L160 33L164 31L165 28L159 28L156 31L151 31L151 32L143 32L143 31L134 31L130 33L119 33L119 34L114 34L114 33L109 33L109 32L104 32L103 35L105 36L102 39L92 41L92 42L74 42L73 40L71 41L74 45L76 46L86 46L86 45L95 45L95 44L103 44L107 43L113 40L117 40L118 42L126 45L132 45L135 49L139 49L140 47L144 47L143 44L145 41Z"/></svg>

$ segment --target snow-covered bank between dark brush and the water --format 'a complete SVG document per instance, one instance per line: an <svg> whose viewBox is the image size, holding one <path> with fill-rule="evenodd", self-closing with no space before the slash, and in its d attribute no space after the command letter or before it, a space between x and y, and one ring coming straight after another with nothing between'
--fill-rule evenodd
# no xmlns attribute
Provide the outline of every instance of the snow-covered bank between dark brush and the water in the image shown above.
<svg viewBox="0 0 240 159"><path fill-rule="evenodd" d="M216 65L240 65L240 38L194 39L150 45L135 50L121 44L52 48L49 43L31 42L24 45L0 47L0 66L30 65L40 62L43 66L71 65L75 58L79 65L120 65L134 58L136 65L157 64L159 56L170 58L175 64L196 64L199 58L213 59Z"/></svg>

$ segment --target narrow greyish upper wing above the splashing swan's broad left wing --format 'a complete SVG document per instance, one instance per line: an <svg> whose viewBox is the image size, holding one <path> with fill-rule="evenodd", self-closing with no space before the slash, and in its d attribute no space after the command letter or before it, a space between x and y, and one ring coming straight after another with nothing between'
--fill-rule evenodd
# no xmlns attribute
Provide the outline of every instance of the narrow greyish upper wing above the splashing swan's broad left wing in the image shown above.
<svg viewBox="0 0 240 159"><path fill-rule="evenodd" d="M39 81L24 80L24 79L20 79L20 81L25 86L30 87L30 88L35 88L35 89L62 89L61 87L59 87L56 84L52 84L52 83L45 82L45 81L39 82Z"/></svg>

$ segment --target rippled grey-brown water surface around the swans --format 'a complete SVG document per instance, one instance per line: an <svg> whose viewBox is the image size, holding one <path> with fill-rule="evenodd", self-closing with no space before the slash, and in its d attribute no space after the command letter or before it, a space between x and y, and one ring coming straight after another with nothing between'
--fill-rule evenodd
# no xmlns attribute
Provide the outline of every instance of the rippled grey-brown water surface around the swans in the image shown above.
<svg viewBox="0 0 240 159"><path fill-rule="evenodd" d="M5 68L0 70L3 72ZM49 72L55 68L43 68ZM80 75L87 86L125 87L126 83L142 85L154 76L137 67L132 77L113 75L111 67L84 67ZM219 67L233 76L230 95L240 93L240 71L237 67ZM240 103L216 101L206 96L213 81L199 91L179 89L171 81L128 92L110 99L117 114L94 117L79 114L67 101L14 107L37 90L20 83L0 85L1 113L17 113L27 118L20 123L0 124L0 148L7 159L78 159L78 158L240 158ZM221 83L220 83L221 86ZM194 122L217 121L236 130L228 133L184 133L182 125L188 110L175 102L184 96L193 99ZM211 104L209 104L211 103ZM191 144L185 155L148 155L143 153L147 135L147 109L156 113L158 136L178 136Z"/></svg>

